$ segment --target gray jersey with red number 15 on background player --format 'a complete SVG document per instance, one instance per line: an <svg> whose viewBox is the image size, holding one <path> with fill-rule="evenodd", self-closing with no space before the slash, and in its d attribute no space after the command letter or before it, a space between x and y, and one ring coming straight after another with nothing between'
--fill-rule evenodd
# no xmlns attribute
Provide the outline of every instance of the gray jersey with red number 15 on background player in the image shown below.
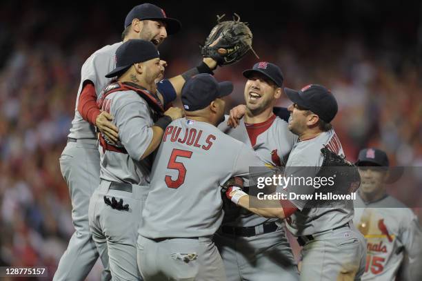
<svg viewBox="0 0 422 281"><path fill-rule="evenodd" d="M395 280L405 254L409 280L421 280L422 230L412 210L390 195L366 203L358 194L353 221L367 242L362 280Z"/></svg>

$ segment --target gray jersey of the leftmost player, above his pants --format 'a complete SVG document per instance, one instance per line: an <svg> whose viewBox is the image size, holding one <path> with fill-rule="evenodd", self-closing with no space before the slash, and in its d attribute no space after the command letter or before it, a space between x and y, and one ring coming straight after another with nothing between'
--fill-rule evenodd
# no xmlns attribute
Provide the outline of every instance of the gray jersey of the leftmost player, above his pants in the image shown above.
<svg viewBox="0 0 422 281"><path fill-rule="evenodd" d="M113 70L116 66L114 54L122 43L123 42L119 42L104 46L88 57L83 64L81 70L81 84L79 84L76 106L74 109L74 119L72 121L72 128L70 128L70 134L68 137L72 137L74 139L96 138L95 127L89 122L86 122L82 118L81 113L78 111L79 95L81 95L83 83L86 80L90 80L94 83L97 97L99 96L101 90L111 81L110 78L106 78L104 75Z"/></svg>

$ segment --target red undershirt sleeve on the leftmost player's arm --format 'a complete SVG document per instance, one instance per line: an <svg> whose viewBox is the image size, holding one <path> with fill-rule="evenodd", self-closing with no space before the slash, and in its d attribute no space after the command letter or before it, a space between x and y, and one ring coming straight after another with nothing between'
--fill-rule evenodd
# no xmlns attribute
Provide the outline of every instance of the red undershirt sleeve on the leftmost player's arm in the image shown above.
<svg viewBox="0 0 422 281"><path fill-rule="evenodd" d="M100 110L97 106L97 93L95 93L95 87L91 81L86 81L82 88L81 95L79 95L78 111L84 120L95 126L95 120L100 114Z"/></svg>

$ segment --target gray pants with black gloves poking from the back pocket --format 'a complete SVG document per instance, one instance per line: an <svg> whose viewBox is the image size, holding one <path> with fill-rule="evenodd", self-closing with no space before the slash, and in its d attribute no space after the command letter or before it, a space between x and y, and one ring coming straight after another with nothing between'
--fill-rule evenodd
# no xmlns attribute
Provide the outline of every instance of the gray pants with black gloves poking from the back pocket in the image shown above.
<svg viewBox="0 0 422 281"><path fill-rule="evenodd" d="M126 184L126 189L113 189L111 182L101 183L90 200L90 229L97 246L106 241L107 251L100 252L101 260L110 263L112 280L141 280L137 266L137 236L142 217L142 206L150 191L149 186ZM123 200L128 210L113 209L104 196ZM108 256L107 256L108 253Z"/></svg>

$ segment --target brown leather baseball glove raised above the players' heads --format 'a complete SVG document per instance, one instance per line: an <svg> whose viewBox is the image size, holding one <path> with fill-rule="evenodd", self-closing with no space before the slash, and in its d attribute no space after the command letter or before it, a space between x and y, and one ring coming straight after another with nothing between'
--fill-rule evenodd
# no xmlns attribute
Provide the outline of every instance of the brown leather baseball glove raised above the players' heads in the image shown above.
<svg viewBox="0 0 422 281"><path fill-rule="evenodd" d="M217 15L217 26L212 28L201 48L203 57L211 57L219 66L234 64L246 55L248 50L254 52L252 32L248 23L240 21L238 14L234 15L237 19L233 17L232 21L221 21L225 14ZM255 52L254 54L257 56Z"/></svg>

